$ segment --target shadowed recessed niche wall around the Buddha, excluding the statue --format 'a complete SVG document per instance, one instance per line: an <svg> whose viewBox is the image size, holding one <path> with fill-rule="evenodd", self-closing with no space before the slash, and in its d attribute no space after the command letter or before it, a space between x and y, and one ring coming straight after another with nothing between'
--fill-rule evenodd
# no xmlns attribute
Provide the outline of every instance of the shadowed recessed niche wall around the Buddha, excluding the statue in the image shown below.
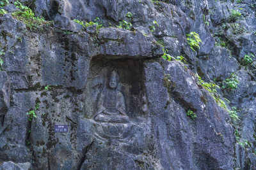
<svg viewBox="0 0 256 170"><path fill-rule="evenodd" d="M109 73L114 69L119 74L118 87L125 99L126 113L131 120L147 114L147 98L143 88L143 62L136 59L106 59L94 57L86 83L86 118L93 118L97 98L108 89Z"/></svg>

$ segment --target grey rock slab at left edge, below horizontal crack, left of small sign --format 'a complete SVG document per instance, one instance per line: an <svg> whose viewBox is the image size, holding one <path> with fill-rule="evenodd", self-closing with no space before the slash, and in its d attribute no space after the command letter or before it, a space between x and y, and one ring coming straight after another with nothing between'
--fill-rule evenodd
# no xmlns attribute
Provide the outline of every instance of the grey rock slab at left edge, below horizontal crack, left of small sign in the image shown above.
<svg viewBox="0 0 256 170"><path fill-rule="evenodd" d="M28 144L29 108L34 108L35 99L24 92L12 92L13 106L6 113L0 134L0 160L30 162ZM22 101L22 102L20 102ZM31 102L32 101L32 102Z"/></svg>

